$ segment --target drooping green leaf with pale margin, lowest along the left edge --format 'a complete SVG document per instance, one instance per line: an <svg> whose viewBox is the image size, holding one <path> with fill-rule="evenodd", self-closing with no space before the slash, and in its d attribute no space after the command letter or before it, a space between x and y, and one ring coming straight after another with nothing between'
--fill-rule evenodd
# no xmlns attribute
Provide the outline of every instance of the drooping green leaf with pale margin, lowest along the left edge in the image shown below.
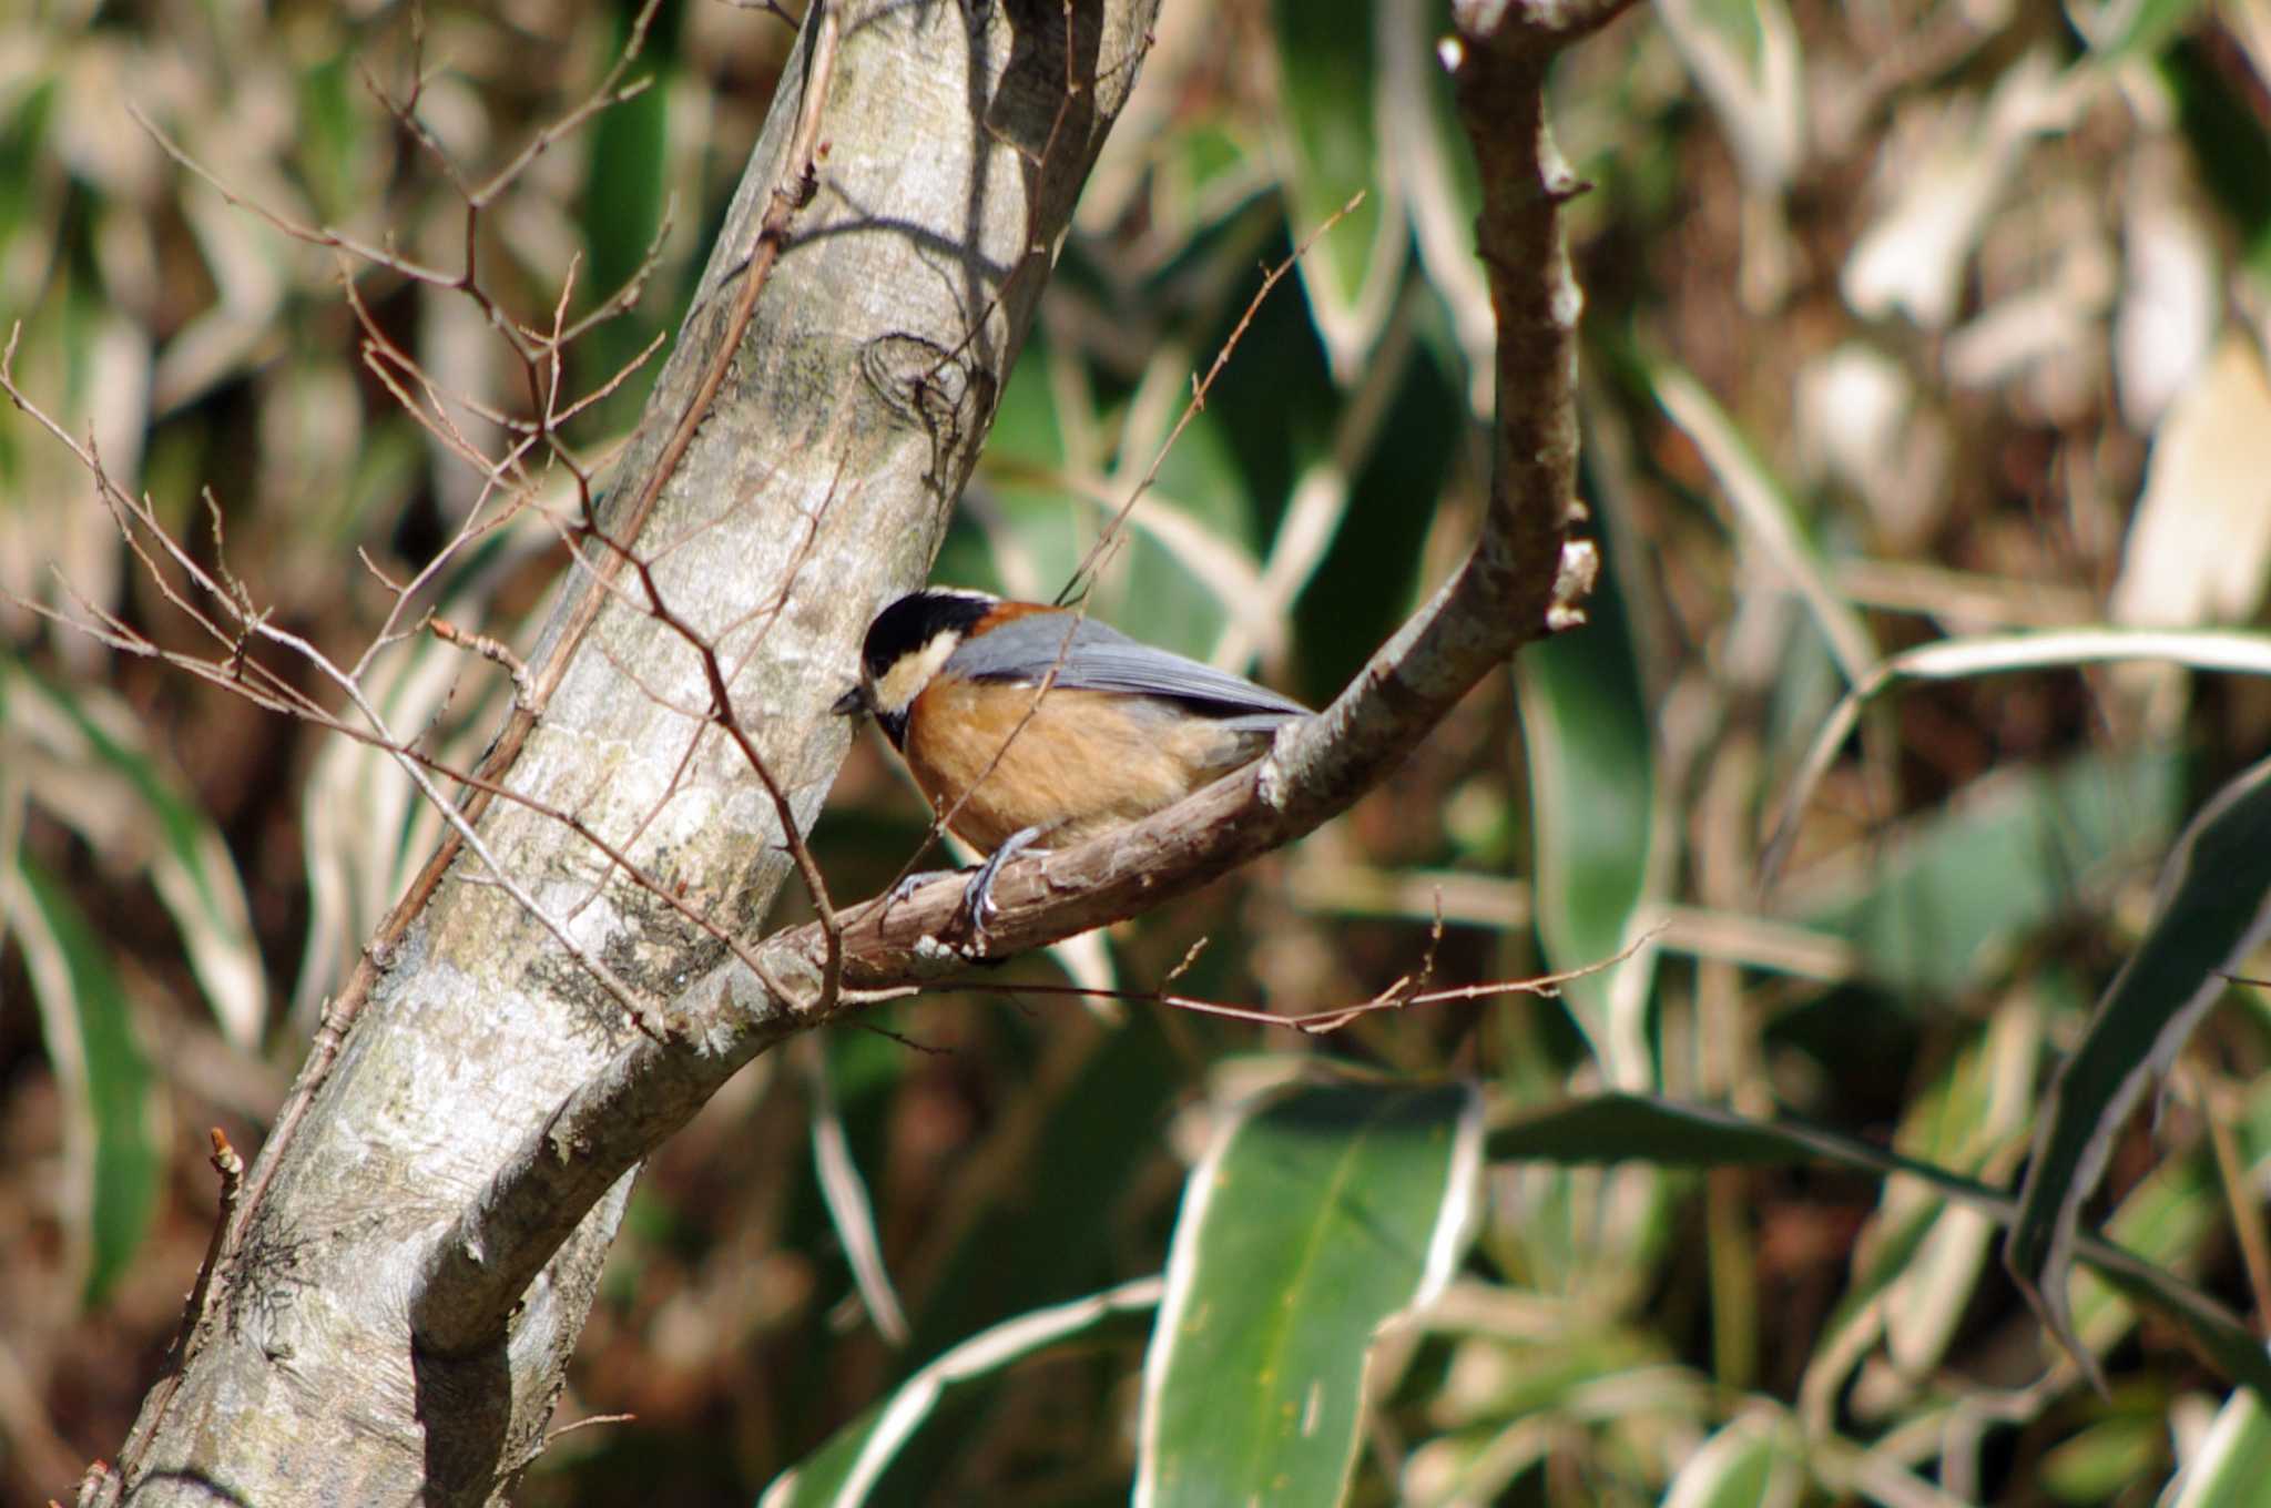
<svg viewBox="0 0 2271 1508"><path fill-rule="evenodd" d="M68 1104L66 1149L79 1183L89 1308L109 1295L150 1233L164 1165L150 1136L154 1074L134 1040L125 988L102 938L30 854L0 870L0 913L23 942L48 1061Z"/></svg>

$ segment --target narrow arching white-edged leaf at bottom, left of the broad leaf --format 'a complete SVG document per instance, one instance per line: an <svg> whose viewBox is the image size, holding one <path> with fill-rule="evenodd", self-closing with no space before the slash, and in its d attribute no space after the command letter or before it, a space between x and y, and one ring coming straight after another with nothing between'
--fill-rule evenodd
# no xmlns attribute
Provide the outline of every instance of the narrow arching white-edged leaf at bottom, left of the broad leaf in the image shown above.
<svg viewBox="0 0 2271 1508"><path fill-rule="evenodd" d="M899 1383L890 1399L836 1431L820 1451L781 1472L756 1499L759 1508L820 1508L822 1503L852 1508L865 1503L906 1442L952 1394L1049 1347L1124 1333L1131 1315L1149 1315L1158 1306L1160 1288L1156 1276L1138 1279L1088 1299L1038 1308L972 1335Z"/></svg>

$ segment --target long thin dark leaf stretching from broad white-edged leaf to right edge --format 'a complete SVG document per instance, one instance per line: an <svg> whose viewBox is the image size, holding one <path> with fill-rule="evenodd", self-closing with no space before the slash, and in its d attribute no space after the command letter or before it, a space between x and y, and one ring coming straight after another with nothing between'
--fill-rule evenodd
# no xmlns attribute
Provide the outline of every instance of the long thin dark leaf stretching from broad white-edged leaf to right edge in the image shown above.
<svg viewBox="0 0 2271 1508"><path fill-rule="evenodd" d="M1592 1095L1522 1115L1490 1133L1492 1161L1621 1163L1658 1167L1778 1167L1833 1163L1869 1174L1924 1179L1949 1199L2008 1226L2019 1201L1973 1179L1869 1142L1803 1126L1758 1122L1715 1106L1651 1095ZM2096 1235L2078 1235L2073 1256L2121 1295L2176 1320L2226 1369L2271 1397L2271 1354L2239 1317L2153 1263Z"/></svg>

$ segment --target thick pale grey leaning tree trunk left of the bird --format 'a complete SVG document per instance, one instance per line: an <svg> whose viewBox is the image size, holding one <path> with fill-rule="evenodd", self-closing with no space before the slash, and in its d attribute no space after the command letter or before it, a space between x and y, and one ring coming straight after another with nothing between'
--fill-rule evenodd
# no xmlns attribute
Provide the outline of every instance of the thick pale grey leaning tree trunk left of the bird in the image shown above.
<svg viewBox="0 0 2271 1508"><path fill-rule="evenodd" d="M1070 39L1056 0L858 0L820 45L806 20L600 509L668 613L715 645L799 824L845 749L824 711L845 647L929 568L1154 7L1081 0ZM793 159L808 95L811 177ZM768 211L786 236L761 245ZM724 382L681 425L752 277ZM479 1503L543 1447L629 1174L502 1335L413 1342L413 1297L466 1201L636 1029L497 872L647 1006L722 947L531 804L575 813L736 936L788 872L772 802L704 715L702 656L618 552L590 543L584 561L536 656L540 709L488 768L525 802L472 797L486 856L452 843L334 1004L336 1054L325 1036L261 1149L114 1501ZM418 1331L438 1333L422 1315Z"/></svg>

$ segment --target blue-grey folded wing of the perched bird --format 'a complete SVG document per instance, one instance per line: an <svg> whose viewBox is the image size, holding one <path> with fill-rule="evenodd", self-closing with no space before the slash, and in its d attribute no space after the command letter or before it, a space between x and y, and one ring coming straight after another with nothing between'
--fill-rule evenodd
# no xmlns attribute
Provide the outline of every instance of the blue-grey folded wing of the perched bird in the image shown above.
<svg viewBox="0 0 2271 1508"><path fill-rule="evenodd" d="M1308 709L1292 697L1281 697L1229 670L1156 650L1101 622L1072 625L1074 620L1061 613L1013 618L990 634L963 640L945 668L972 681L1038 686L1049 668L1063 661L1056 684L1067 690L1117 690L1195 702L1240 731L1267 731L1288 718L1308 715Z"/></svg>

